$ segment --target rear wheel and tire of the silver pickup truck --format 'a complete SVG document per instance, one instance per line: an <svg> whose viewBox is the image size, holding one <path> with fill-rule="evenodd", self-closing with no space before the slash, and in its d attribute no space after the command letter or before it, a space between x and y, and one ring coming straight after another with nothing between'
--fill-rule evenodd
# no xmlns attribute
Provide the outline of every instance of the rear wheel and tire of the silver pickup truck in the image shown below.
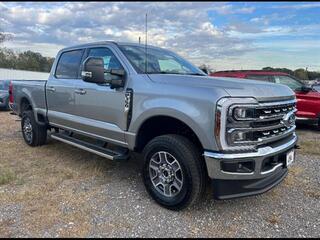
<svg viewBox="0 0 320 240"><path fill-rule="evenodd" d="M47 141L47 127L36 122L32 111L22 114L21 129L24 141L32 147L44 145Z"/></svg>

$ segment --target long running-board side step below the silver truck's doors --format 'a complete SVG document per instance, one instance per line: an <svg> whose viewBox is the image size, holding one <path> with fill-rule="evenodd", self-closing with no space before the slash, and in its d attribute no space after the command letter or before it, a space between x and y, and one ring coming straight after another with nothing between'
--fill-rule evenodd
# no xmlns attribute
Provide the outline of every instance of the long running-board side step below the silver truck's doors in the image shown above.
<svg viewBox="0 0 320 240"><path fill-rule="evenodd" d="M124 152L116 152L61 133L52 133L51 137L58 141L70 144L74 147L81 148L88 152L95 153L101 157L105 157L110 160L121 161L127 160L129 158L129 150L127 149Z"/></svg>

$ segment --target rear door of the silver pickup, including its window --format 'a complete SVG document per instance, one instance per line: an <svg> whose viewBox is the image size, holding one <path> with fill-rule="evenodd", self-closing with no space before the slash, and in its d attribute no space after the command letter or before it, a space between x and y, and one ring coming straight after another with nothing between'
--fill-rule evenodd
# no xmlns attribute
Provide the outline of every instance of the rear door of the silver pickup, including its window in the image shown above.
<svg viewBox="0 0 320 240"><path fill-rule="evenodd" d="M76 49L60 54L55 72L46 84L48 118L51 125L75 128L75 85L82 81L80 64L84 50Z"/></svg>

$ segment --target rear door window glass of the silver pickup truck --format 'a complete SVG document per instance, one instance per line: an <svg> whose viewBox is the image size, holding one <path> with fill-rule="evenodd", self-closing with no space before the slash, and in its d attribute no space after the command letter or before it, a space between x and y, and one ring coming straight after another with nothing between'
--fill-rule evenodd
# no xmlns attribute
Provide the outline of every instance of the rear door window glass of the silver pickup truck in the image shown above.
<svg viewBox="0 0 320 240"><path fill-rule="evenodd" d="M83 50L62 53L56 69L56 78L78 78L82 54Z"/></svg>

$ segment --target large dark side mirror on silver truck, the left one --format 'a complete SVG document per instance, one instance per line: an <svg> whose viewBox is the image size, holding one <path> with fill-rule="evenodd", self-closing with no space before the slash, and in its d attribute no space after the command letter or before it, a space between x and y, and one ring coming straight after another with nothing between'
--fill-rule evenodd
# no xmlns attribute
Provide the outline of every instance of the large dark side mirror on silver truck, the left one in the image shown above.
<svg viewBox="0 0 320 240"><path fill-rule="evenodd" d="M81 77L85 82L106 83L104 80L103 58L88 57L86 60L84 60Z"/></svg>

